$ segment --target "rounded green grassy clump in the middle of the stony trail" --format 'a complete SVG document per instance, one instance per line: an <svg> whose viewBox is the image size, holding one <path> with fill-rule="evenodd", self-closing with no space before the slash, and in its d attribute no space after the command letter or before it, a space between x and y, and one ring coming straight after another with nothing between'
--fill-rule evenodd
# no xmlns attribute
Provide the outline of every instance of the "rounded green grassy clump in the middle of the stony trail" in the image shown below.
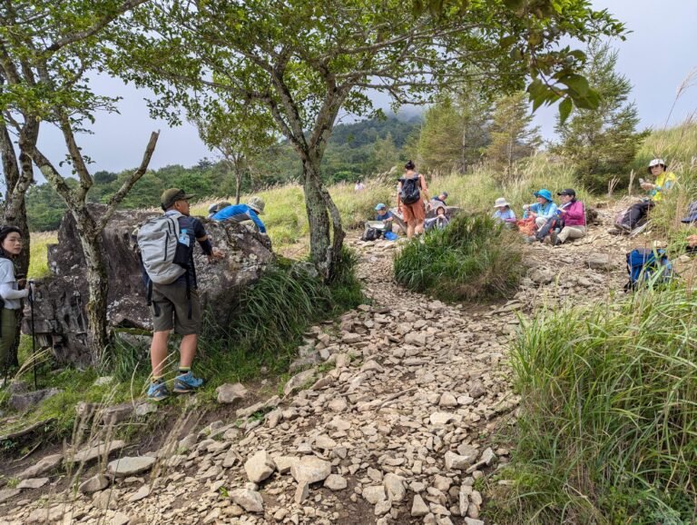
<svg viewBox="0 0 697 525"><path fill-rule="evenodd" d="M395 278L446 301L506 297L521 276L520 240L486 215L457 216L395 256Z"/></svg>

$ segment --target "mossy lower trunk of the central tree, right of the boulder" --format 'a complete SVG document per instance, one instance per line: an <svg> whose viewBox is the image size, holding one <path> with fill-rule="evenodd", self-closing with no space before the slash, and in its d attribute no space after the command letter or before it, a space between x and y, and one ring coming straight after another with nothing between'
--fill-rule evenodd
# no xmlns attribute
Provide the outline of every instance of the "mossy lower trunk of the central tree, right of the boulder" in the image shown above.
<svg viewBox="0 0 697 525"><path fill-rule="evenodd" d="M309 222L309 255L325 282L336 277L345 233L339 209L322 184L319 159L302 159L303 190Z"/></svg>

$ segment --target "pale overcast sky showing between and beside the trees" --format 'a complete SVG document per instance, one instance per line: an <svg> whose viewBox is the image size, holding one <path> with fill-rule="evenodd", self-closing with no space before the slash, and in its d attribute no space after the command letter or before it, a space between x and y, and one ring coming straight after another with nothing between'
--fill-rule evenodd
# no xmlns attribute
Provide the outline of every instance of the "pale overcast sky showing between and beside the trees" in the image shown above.
<svg viewBox="0 0 697 525"><path fill-rule="evenodd" d="M614 43L619 50L617 69L633 84L632 96L639 108L641 125L662 128L678 86L697 68L697 0L594 0L594 6L608 9L633 32L625 42ZM137 166L150 133L157 129L162 133L151 168L168 164L190 166L205 156L215 158L191 124L169 128L163 122L153 121L144 102L147 92L107 77L95 79L93 86L97 93L123 97L120 114L98 115L94 134L80 137L83 152L94 161L93 172L118 172ZM695 110L697 85L677 102L670 124L681 122ZM542 108L535 116L546 139L554 136L555 114L556 107ZM40 144L54 163L64 159L64 143L55 130L45 126Z"/></svg>

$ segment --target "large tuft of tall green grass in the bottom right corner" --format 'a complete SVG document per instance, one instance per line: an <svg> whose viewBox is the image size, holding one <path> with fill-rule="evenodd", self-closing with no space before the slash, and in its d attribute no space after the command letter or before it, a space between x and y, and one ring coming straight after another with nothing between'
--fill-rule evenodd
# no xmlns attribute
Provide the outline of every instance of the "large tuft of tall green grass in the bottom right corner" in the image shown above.
<svg viewBox="0 0 697 525"><path fill-rule="evenodd" d="M530 322L510 522L692 523L696 342L697 294L674 286Z"/></svg>

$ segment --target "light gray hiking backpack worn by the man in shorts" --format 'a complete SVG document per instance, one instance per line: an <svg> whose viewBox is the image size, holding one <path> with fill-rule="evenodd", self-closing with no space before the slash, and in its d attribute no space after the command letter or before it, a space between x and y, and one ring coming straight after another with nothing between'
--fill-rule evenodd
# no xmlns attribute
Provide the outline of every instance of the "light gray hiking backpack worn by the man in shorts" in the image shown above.
<svg viewBox="0 0 697 525"><path fill-rule="evenodd" d="M181 216L182 213L170 213L153 217L138 230L142 266L150 280L157 284L170 284L186 272L178 250L181 235L178 219ZM186 242L189 242L188 237Z"/></svg>

